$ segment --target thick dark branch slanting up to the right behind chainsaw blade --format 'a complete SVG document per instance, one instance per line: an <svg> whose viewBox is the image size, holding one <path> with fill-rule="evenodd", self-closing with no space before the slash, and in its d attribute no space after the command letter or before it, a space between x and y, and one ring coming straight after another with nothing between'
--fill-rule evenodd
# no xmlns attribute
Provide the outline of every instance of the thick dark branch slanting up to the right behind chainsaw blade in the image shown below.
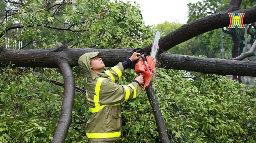
<svg viewBox="0 0 256 143"><path fill-rule="evenodd" d="M256 22L256 6L248 9L241 10L234 5L238 5L241 0L234 0L231 2L232 8L226 8L224 11L215 13L213 15L206 16L204 18L198 19L191 23L182 25L180 28L170 32L166 36L159 39L159 50L158 54L164 53L170 48L185 42L195 36L203 34L205 32L218 29L221 27L227 27L230 24L230 18L228 13L245 13L243 23L250 24ZM181 38L182 37L182 38ZM150 54L152 44L145 47L147 54Z"/></svg>

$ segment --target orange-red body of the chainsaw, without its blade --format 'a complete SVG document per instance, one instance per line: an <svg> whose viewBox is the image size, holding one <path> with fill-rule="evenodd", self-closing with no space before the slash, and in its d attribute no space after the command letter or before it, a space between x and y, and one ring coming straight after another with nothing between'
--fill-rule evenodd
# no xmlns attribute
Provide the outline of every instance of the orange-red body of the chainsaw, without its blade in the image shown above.
<svg viewBox="0 0 256 143"><path fill-rule="evenodd" d="M139 61L135 65L136 74L141 73L140 75L143 75L144 85L140 85L141 88L145 88L150 84L156 65L156 59L154 57L147 56L145 59L148 65L146 65L143 60Z"/></svg>

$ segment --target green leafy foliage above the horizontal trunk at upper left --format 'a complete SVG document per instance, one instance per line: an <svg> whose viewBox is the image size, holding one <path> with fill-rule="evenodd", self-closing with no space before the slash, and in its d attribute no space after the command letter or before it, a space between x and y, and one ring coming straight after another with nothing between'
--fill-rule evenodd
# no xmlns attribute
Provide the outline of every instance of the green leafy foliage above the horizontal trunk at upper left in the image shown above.
<svg viewBox="0 0 256 143"><path fill-rule="evenodd" d="M24 3L16 15L0 25L0 32L15 26L15 21L25 26L9 30L6 37L1 38L4 44L8 38L11 48L15 48L15 40L22 41L23 46L33 41L26 49L53 48L61 43L76 48L94 45L95 48L137 48L153 36L134 3L117 0L70 0L64 4L29 0ZM64 30L59 30L61 28Z"/></svg>

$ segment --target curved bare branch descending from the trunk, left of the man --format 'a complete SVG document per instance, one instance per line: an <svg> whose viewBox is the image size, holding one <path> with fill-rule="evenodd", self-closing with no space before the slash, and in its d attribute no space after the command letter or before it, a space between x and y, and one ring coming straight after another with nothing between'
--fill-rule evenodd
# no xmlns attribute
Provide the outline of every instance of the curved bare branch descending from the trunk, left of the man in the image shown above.
<svg viewBox="0 0 256 143"><path fill-rule="evenodd" d="M65 93L61 105L61 118L54 133L52 143L65 143L67 132L72 123L72 108L75 98L75 80L72 68L66 61L59 61L59 68L64 78Z"/></svg>

